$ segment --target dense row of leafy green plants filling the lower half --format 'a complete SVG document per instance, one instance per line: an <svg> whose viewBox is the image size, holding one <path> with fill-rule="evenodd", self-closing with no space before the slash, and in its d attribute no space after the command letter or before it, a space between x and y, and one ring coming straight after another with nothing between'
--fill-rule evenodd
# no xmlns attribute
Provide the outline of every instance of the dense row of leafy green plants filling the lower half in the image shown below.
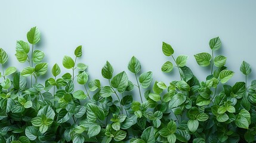
<svg viewBox="0 0 256 143"><path fill-rule="evenodd" d="M101 74L109 84L88 80L87 65L77 62L82 46L74 58L64 56L62 66L70 73L61 73L58 64L50 69L42 63L45 54L35 47L40 40L38 28L32 27L28 42L17 41L15 56L29 65L20 72L6 66L8 55L0 48L0 142L256 141L256 80L248 85L251 67L243 61L245 81L226 84L235 73L225 67L226 57L214 56L221 48L218 37L209 41L211 54L195 54L199 66L211 68L201 82L186 66L187 55L174 58L174 49L163 42L162 51L171 61L161 70L180 73L180 80L168 84L152 82L152 72L141 73L135 57L128 63L135 81L125 71L113 75L108 61ZM47 70L52 76L39 83Z"/></svg>

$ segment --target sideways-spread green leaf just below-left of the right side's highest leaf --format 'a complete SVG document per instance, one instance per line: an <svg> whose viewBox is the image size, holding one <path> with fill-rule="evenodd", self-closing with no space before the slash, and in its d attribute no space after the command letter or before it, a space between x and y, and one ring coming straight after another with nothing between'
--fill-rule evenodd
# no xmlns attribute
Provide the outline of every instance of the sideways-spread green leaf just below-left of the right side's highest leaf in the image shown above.
<svg viewBox="0 0 256 143"><path fill-rule="evenodd" d="M201 67L206 67L209 66L209 64L211 64L212 56L207 52L201 52L199 54L194 55L194 57L196 58L196 62Z"/></svg>

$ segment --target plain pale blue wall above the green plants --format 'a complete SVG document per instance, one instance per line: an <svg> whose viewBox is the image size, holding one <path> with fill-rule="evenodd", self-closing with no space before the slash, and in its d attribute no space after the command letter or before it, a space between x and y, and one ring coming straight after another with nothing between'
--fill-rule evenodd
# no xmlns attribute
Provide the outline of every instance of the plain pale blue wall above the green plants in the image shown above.
<svg viewBox="0 0 256 143"><path fill-rule="evenodd" d="M174 48L174 57L189 55L187 65L200 80L205 80L211 71L199 67L193 55L211 53L209 39L220 36L223 45L215 55L225 55L226 65L236 73L228 83L244 80L239 71L243 60L252 66L249 78L255 78L256 1L8 0L0 5L0 47L9 55L9 66L20 70L28 64L16 60L16 41L27 41L27 31L38 26L42 38L35 48L45 52L44 61L49 62L50 70L55 63L64 70L64 55L74 57L74 49L82 45L83 56L78 61L89 66L91 79L106 83L101 68L109 60L115 74L125 70L135 83L127 69L135 55L143 72L153 71L153 81L168 84L180 77L177 69L171 74L161 71L165 61L172 61L162 54L165 41Z"/></svg>

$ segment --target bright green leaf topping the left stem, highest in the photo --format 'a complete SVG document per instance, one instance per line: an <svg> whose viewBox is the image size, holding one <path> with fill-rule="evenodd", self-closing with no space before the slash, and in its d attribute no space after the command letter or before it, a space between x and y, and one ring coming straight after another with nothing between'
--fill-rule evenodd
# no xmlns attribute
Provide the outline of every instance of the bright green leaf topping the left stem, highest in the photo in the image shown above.
<svg viewBox="0 0 256 143"><path fill-rule="evenodd" d="M37 27L32 27L29 32L27 32L27 41L29 43L35 45L41 39L41 33L39 32Z"/></svg>

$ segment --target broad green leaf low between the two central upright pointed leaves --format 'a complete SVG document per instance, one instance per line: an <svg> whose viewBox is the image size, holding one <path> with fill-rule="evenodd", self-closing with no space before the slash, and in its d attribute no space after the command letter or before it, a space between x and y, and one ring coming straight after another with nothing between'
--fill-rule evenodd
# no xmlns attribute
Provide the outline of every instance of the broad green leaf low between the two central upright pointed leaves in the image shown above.
<svg viewBox="0 0 256 143"><path fill-rule="evenodd" d="M122 71L121 73L114 76L110 83L113 88L118 89L118 92L124 92L128 85L127 73L125 73L125 71Z"/></svg>

